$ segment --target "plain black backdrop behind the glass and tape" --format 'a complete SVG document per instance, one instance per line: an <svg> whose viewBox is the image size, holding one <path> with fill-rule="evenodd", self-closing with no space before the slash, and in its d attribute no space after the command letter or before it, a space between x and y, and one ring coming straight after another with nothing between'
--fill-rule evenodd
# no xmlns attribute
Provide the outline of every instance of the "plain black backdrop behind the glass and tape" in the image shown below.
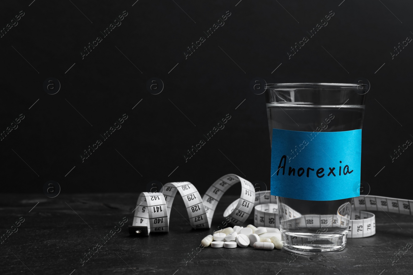
<svg viewBox="0 0 413 275"><path fill-rule="evenodd" d="M411 2L10 1L1 3L0 28L21 10L18 25L0 38L0 132L24 115L0 141L2 192L41 193L49 180L62 193L140 192L157 180L190 181L204 193L228 173L269 188L265 96L249 82L363 77L371 88L361 179L371 195L413 199L406 192L413 149L390 158L413 140L413 46L390 54L413 37ZM103 38L100 31L123 11L121 26ZM227 11L225 25L207 38L204 31ZM290 47L330 11L328 25L289 59ZM82 59L97 36L102 42ZM185 59L200 36L206 41ZM50 77L60 82L57 94L43 89ZM146 88L152 77L164 83L160 94ZM121 129L103 141L100 134L124 113ZM225 128L185 162L186 151L227 114ZM97 139L103 144L82 162Z"/></svg>

